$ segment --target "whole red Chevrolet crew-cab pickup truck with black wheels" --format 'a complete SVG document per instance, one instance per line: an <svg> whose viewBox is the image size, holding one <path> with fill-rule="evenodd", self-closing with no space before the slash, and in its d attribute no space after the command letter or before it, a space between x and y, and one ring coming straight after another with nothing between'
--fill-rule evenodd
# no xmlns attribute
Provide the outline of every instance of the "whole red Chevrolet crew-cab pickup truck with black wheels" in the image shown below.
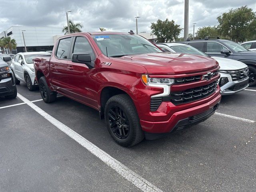
<svg viewBox="0 0 256 192"><path fill-rule="evenodd" d="M34 68L44 102L59 93L98 110L122 146L202 122L221 98L214 59L162 52L132 33L62 36Z"/></svg>

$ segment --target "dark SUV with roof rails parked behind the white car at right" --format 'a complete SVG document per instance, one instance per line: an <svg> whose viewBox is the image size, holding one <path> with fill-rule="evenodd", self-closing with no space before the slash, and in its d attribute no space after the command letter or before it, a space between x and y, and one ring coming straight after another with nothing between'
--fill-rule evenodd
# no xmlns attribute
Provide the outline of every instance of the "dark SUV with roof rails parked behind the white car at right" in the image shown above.
<svg viewBox="0 0 256 192"><path fill-rule="evenodd" d="M230 41L220 39L219 37L204 39L190 40L188 38L186 41L180 43L185 43L194 48L199 49L202 52L210 56L224 57L229 59L234 59L243 62L248 65L249 68L249 86L256 85L256 52L250 51L243 46Z"/></svg>

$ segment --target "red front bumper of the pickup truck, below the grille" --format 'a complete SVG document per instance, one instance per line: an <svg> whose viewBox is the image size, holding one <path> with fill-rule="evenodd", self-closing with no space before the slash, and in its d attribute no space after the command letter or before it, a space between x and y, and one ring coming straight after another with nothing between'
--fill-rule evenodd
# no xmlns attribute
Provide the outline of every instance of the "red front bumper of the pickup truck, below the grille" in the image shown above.
<svg viewBox="0 0 256 192"><path fill-rule="evenodd" d="M173 113L172 116L167 121L150 122L150 121L140 120L140 124L142 126L142 130L144 130L145 132L146 138L150 139L150 135L152 134L156 136L154 138L159 138L163 133L166 134L175 130L180 130L182 129L182 127L185 128L188 124L192 123L192 122L188 122L188 119L193 118L193 116L200 116L201 114L213 108L217 108L218 104L220 103L221 95L217 90L216 94L214 94L213 96L214 98L211 98L210 100L208 100L208 102ZM214 114L214 112L215 110L212 111L210 115ZM208 117L209 116L207 117L203 116L202 120L206 120ZM198 123L198 121L195 121L194 123L196 122Z"/></svg>

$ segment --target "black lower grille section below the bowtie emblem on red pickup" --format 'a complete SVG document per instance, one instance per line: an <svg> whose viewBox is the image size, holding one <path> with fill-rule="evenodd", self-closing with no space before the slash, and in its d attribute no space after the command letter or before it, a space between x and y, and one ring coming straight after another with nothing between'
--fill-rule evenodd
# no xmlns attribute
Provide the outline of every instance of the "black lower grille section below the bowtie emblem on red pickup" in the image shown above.
<svg viewBox="0 0 256 192"><path fill-rule="evenodd" d="M170 101L175 104L183 104L205 98L212 94L218 86L218 81L212 82L205 86L187 89L181 92L171 92Z"/></svg>

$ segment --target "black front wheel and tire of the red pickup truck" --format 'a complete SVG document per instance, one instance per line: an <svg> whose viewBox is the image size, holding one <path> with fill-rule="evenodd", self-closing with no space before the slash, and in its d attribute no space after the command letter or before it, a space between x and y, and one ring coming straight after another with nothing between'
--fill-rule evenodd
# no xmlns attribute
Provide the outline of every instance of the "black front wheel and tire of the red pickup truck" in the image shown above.
<svg viewBox="0 0 256 192"><path fill-rule="evenodd" d="M137 110L128 95L115 95L108 100L105 119L108 132L119 145L130 147L144 139Z"/></svg>

